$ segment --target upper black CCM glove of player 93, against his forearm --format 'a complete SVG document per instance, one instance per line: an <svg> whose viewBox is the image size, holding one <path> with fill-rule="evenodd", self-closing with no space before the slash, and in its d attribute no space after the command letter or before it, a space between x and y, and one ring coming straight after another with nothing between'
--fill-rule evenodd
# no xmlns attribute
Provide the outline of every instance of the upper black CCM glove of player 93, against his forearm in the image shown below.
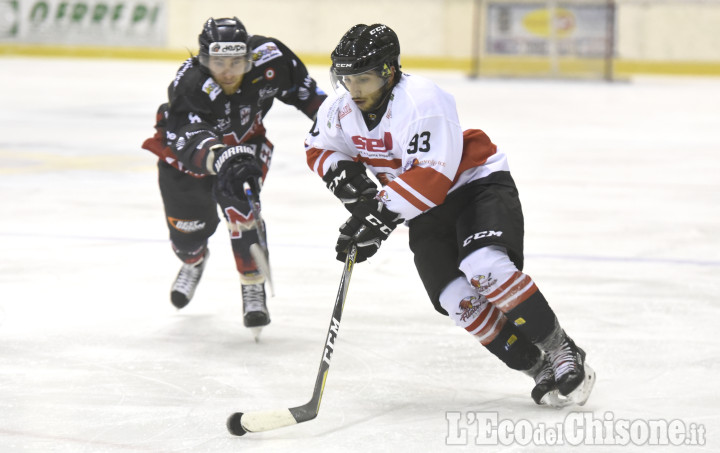
<svg viewBox="0 0 720 453"><path fill-rule="evenodd" d="M365 165L352 160L332 164L323 181L350 212L361 197L373 198L377 194L377 185L368 177Z"/></svg>

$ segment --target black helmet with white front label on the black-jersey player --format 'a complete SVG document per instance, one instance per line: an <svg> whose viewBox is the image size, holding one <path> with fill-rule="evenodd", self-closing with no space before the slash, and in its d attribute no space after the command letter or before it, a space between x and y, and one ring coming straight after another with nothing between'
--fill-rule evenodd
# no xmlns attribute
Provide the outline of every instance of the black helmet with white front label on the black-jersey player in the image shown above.
<svg viewBox="0 0 720 453"><path fill-rule="evenodd" d="M248 32L237 17L232 19L211 17L205 22L198 36L200 63L207 67L210 56L243 57L249 63L248 39Z"/></svg>

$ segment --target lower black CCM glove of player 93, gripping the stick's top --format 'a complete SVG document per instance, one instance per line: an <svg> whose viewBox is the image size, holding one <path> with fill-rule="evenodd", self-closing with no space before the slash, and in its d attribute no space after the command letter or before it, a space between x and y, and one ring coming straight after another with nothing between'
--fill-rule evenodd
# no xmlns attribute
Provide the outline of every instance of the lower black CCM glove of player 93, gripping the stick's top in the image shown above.
<svg viewBox="0 0 720 453"><path fill-rule="evenodd" d="M400 214L375 199L358 201L352 214L340 227L335 246L338 261L345 261L350 244L354 242L358 246L355 262L362 263L378 251L382 241L403 221Z"/></svg>

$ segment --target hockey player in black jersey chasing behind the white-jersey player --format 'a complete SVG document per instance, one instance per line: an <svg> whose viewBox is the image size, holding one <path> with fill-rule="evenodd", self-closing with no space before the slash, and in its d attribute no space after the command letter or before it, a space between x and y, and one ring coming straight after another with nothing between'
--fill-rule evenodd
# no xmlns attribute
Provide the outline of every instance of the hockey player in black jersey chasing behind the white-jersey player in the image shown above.
<svg viewBox="0 0 720 453"><path fill-rule="evenodd" d="M156 133L143 143L159 157L170 240L183 262L170 298L178 309L192 299L219 205L240 274L244 324L258 328L270 322L265 276L250 253L264 239L251 203L259 203L273 154L263 118L278 99L312 120L326 95L288 47L249 35L237 18L208 19L198 40L199 54L177 71Z"/></svg>

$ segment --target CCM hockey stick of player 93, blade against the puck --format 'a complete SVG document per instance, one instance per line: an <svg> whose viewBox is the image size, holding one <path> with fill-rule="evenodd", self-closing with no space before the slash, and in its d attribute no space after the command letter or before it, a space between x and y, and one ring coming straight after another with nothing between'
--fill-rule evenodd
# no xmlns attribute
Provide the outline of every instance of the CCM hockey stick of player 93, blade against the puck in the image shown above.
<svg viewBox="0 0 720 453"><path fill-rule="evenodd" d="M345 258L345 268L340 278L340 287L338 288L338 294L335 298L335 307L333 308L332 318L330 319L330 327L328 327L327 341L325 342L325 349L323 350L322 359L320 360L320 368L317 378L315 379L315 388L313 389L310 401L302 406L288 409L246 413L235 412L227 420L227 428L230 433L236 436L242 436L245 433L269 431L271 429L282 428L283 426L295 425L317 417L320 411L322 394L325 390L325 381L328 371L330 370L330 359L335 349L338 329L340 329L340 318L342 317L343 308L345 307L345 298L348 287L350 286L350 276L352 275L356 256L357 246L353 244Z"/></svg>

